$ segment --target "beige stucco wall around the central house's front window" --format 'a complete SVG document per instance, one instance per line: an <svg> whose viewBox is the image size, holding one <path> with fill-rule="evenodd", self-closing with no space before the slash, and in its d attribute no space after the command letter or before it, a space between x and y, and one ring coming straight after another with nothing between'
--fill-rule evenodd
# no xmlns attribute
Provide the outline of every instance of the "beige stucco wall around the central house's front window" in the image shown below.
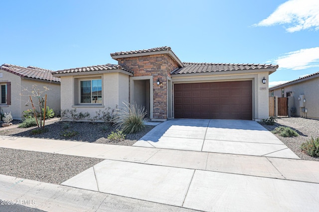
<svg viewBox="0 0 319 212"><path fill-rule="evenodd" d="M79 79L101 78L102 79L102 104L79 104ZM99 110L112 109L124 106L123 102L129 102L129 76L121 72L61 76L61 110L89 112L91 117ZM87 121L87 120L82 120Z"/></svg>

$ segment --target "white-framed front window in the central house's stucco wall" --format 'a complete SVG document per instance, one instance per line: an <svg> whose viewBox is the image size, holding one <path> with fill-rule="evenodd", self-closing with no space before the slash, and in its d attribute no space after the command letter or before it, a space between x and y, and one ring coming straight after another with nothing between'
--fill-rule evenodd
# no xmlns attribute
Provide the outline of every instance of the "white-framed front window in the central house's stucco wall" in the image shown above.
<svg viewBox="0 0 319 212"><path fill-rule="evenodd" d="M102 79L81 81L80 103L102 103Z"/></svg>

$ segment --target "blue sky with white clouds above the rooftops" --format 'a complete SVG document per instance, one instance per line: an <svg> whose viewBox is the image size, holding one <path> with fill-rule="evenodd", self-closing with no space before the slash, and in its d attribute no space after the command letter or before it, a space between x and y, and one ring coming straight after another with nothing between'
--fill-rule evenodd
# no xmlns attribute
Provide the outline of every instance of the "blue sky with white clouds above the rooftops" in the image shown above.
<svg viewBox="0 0 319 212"><path fill-rule="evenodd" d="M318 0L0 0L0 64L62 70L170 46L182 62L278 64L270 86L319 71Z"/></svg>

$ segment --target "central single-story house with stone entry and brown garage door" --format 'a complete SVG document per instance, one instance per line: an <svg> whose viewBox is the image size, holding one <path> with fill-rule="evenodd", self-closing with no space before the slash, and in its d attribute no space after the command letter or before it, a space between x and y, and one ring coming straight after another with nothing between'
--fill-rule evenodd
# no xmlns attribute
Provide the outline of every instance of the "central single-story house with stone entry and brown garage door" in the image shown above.
<svg viewBox="0 0 319 212"><path fill-rule="evenodd" d="M170 47L111 57L118 65L52 73L61 77L61 109L94 115L136 102L152 120L268 118L268 75L277 65L182 63Z"/></svg>

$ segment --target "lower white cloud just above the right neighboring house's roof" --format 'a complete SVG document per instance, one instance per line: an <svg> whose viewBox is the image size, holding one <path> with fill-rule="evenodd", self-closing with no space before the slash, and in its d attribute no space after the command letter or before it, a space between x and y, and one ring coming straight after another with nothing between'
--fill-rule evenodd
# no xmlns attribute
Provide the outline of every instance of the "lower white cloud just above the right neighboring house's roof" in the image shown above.
<svg viewBox="0 0 319 212"><path fill-rule="evenodd" d="M280 69L302 70L319 67L319 47L286 53L272 63L279 65Z"/></svg>

